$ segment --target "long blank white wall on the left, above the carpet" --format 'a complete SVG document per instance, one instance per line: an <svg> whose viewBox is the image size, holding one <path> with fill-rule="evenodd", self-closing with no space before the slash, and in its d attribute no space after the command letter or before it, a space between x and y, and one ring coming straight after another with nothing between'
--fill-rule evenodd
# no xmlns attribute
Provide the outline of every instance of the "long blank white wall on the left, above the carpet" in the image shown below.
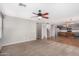
<svg viewBox="0 0 79 59"><path fill-rule="evenodd" d="M3 46L31 40L36 40L36 22L16 17L5 17Z"/></svg>

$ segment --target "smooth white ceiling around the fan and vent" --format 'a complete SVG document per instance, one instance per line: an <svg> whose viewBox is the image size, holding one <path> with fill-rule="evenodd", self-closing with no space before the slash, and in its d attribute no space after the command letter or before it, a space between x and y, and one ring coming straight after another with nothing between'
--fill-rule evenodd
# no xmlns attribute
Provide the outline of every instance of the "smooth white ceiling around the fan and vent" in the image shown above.
<svg viewBox="0 0 79 59"><path fill-rule="evenodd" d="M25 3L24 3L25 4ZM9 16L31 19L32 12L39 9L49 12L49 21L61 22L68 19L79 20L78 3L26 3L26 7L18 6L18 3L2 3L2 11Z"/></svg>

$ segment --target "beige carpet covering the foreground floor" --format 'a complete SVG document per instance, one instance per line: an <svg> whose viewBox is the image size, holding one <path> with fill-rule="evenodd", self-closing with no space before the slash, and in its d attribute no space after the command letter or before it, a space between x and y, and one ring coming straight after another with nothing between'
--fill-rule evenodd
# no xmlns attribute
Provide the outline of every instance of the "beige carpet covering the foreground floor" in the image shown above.
<svg viewBox="0 0 79 59"><path fill-rule="evenodd" d="M6 56L77 56L79 47L58 43L53 40L35 40L5 46L0 55Z"/></svg>

